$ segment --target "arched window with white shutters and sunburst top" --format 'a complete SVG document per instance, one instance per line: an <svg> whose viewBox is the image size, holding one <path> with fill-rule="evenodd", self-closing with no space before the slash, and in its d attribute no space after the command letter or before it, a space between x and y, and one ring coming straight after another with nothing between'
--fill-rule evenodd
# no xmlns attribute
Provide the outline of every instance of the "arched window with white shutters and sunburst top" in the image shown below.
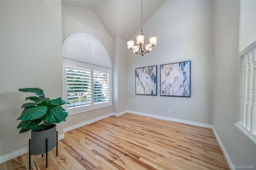
<svg viewBox="0 0 256 170"><path fill-rule="evenodd" d="M76 33L62 44L63 89L69 115L112 105L111 60L95 37Z"/></svg>

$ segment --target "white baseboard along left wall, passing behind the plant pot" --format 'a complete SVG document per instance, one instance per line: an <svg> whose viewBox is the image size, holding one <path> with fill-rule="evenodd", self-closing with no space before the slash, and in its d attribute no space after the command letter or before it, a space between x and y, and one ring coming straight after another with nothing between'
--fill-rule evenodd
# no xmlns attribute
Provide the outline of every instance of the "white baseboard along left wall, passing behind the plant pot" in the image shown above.
<svg viewBox="0 0 256 170"><path fill-rule="evenodd" d="M64 139L64 134L60 134L58 135L58 140L61 140L61 139ZM25 147L25 148L22 148L22 149L19 149L19 150L16 150L14 152L11 152L9 154L6 154L6 155L3 155L3 156L0 156L0 164L2 164L3 162L6 162L8 160L11 160L13 158L16 158L18 156L21 156L23 154L26 154L28 153L28 146Z"/></svg>

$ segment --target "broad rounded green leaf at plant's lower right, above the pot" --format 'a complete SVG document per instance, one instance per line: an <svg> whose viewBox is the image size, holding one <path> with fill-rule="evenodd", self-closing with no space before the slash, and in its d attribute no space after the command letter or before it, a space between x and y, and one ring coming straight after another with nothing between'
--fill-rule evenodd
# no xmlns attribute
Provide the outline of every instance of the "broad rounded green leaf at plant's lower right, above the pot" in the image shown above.
<svg viewBox="0 0 256 170"><path fill-rule="evenodd" d="M49 123L60 123L65 120L68 116L68 113L60 105L51 108L47 113L41 117L44 121Z"/></svg>

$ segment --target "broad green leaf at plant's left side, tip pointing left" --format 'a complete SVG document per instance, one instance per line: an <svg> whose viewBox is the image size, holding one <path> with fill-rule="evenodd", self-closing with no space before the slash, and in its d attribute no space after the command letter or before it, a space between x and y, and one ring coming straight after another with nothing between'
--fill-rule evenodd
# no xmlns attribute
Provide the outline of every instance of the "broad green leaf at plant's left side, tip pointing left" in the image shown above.
<svg viewBox="0 0 256 170"><path fill-rule="evenodd" d="M47 112L47 106L32 106L26 107L20 117L17 120L29 121L33 119L38 119L45 115Z"/></svg>

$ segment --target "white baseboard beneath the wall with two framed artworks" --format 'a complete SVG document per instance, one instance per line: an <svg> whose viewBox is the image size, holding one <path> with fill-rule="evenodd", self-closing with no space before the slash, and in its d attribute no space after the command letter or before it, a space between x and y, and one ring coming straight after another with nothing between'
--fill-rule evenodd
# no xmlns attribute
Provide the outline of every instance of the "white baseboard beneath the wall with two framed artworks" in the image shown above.
<svg viewBox="0 0 256 170"><path fill-rule="evenodd" d="M197 127L204 127L204 128L210 128L212 129L212 125L208 125L208 124L204 124L204 123L198 123L198 122L192 122L192 121L185 121L182 119L175 119L175 118L170 118L170 117L164 117L164 116L158 116L158 115L152 115L152 114L148 114L148 113L141 113L141 112L136 112L136 111L127 111L128 113L133 113L136 115L142 115L142 116L147 116L147 117L153 117L153 118L157 118L157 119L163 119L166 121L173 121L173 122L178 122L178 123L184 123L187 125L194 125Z"/></svg>

